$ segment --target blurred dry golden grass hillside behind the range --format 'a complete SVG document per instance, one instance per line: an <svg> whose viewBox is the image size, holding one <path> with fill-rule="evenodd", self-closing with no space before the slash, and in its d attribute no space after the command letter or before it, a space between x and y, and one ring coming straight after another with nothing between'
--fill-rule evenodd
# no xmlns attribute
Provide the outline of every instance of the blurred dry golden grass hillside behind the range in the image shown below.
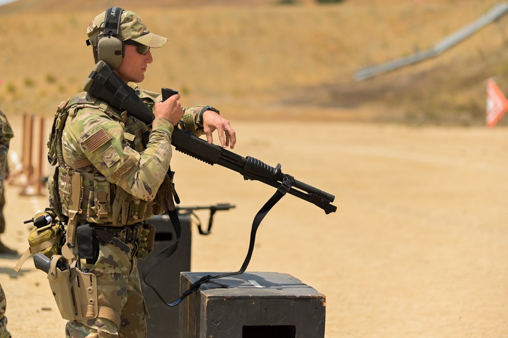
<svg viewBox="0 0 508 338"><path fill-rule="evenodd" d="M109 6L170 38L142 86L180 90L234 119L485 124L486 80L508 90L508 15L443 54L364 81L355 72L425 50L494 0L18 0L0 7L0 104L53 114L93 68L88 22Z"/></svg>

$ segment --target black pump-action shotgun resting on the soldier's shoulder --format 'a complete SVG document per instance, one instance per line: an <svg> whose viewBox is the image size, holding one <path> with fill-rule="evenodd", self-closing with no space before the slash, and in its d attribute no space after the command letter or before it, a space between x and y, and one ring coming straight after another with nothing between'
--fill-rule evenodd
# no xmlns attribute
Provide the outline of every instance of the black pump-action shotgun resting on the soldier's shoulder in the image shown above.
<svg viewBox="0 0 508 338"><path fill-rule="evenodd" d="M102 61L89 75L83 90L117 109L126 110L130 115L146 124L151 124L154 119L152 111L138 97L134 89L123 82ZM162 94L164 101L176 93L174 90L162 88ZM171 144L176 150L200 161L234 170L242 174L246 180L258 180L277 189L285 185L285 182L291 181L287 188L289 194L322 208L327 214L337 210L337 207L331 204L335 196L296 180L291 175L282 173L280 164L271 167L258 159L249 156L244 158L178 128L175 128L171 136Z"/></svg>

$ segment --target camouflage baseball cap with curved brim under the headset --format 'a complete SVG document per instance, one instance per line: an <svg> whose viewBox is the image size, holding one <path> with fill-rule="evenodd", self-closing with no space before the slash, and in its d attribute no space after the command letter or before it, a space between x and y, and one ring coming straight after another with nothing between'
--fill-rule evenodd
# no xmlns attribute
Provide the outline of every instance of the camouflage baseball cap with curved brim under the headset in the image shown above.
<svg viewBox="0 0 508 338"><path fill-rule="evenodd" d="M106 11L96 16L88 24L86 34L93 46L97 45L97 37L103 32L103 22L105 17ZM168 42L168 38L150 33L148 27L146 27L141 18L134 12L123 11L120 22L120 32L123 40L134 40L151 48L160 48Z"/></svg>

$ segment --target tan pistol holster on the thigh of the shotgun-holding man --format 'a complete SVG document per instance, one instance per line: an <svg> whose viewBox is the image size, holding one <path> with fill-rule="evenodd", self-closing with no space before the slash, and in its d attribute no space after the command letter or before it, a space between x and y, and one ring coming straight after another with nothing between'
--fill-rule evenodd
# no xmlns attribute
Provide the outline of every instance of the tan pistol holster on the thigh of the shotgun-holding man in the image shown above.
<svg viewBox="0 0 508 338"><path fill-rule="evenodd" d="M67 260L61 255L51 257L51 265L48 271L48 280L56 305L63 319L73 321L76 319L74 299L72 296L71 271L68 264L61 270L56 266L58 261L67 263ZM60 264L61 265L61 264Z"/></svg>

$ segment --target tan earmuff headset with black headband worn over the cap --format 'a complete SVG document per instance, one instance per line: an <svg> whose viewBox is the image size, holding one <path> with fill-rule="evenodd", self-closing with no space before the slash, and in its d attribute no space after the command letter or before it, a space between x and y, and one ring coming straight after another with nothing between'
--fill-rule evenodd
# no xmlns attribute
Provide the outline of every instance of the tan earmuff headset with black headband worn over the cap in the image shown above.
<svg viewBox="0 0 508 338"><path fill-rule="evenodd" d="M106 11L103 32L97 37L97 56L111 69L116 69L123 59L123 37L120 30L123 9L110 7ZM101 27L99 27L101 29Z"/></svg>

